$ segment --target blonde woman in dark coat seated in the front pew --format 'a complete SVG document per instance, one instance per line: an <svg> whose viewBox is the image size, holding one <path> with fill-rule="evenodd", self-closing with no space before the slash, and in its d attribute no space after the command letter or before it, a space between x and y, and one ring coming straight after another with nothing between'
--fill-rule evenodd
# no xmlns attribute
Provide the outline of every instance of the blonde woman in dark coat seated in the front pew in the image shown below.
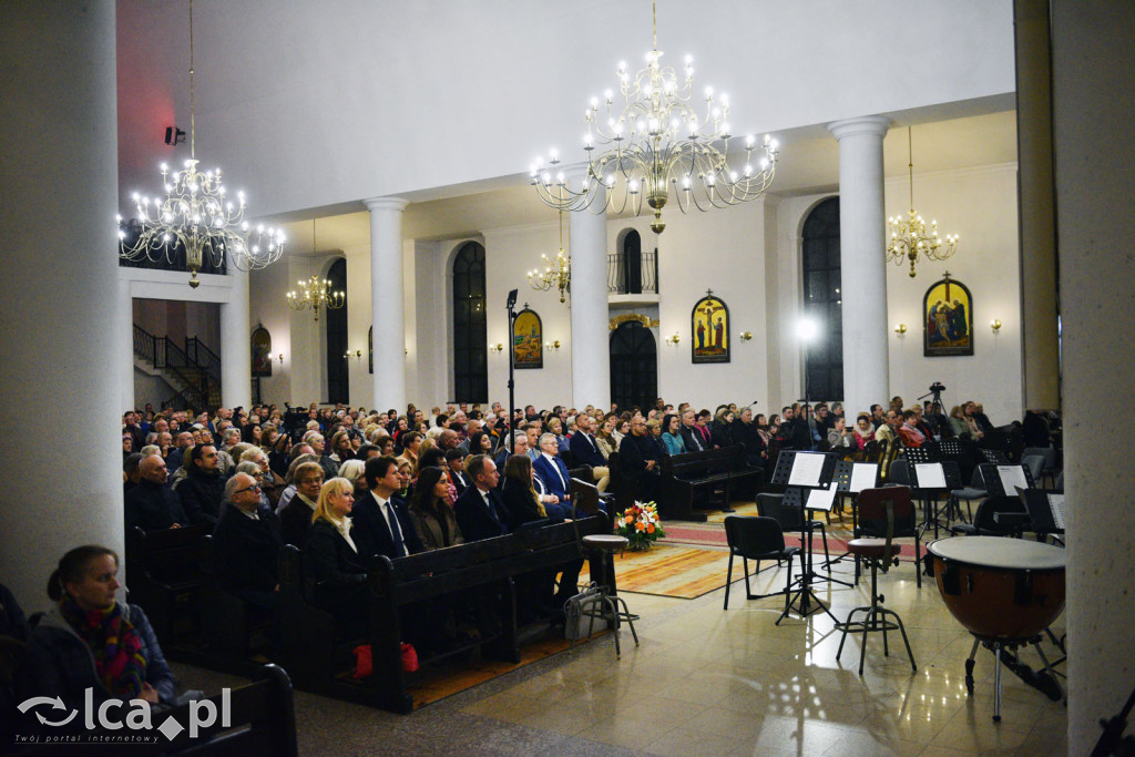
<svg viewBox="0 0 1135 757"><path fill-rule="evenodd" d="M303 574L312 584L313 604L342 622L348 633L367 629L367 565L351 538L354 485L333 478L319 489L303 545Z"/></svg>

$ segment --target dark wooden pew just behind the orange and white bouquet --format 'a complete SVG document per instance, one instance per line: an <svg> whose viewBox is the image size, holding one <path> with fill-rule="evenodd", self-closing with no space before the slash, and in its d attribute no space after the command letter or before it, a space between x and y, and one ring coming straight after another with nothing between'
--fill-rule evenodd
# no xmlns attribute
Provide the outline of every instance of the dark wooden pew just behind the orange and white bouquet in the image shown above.
<svg viewBox="0 0 1135 757"><path fill-rule="evenodd" d="M706 514L696 510L695 504L707 502L717 486L724 489L724 505L728 507L735 482L756 480L760 476L759 469L749 468L746 463L741 445L664 457L659 472L662 497L658 514L664 519L682 521L705 521Z"/></svg>

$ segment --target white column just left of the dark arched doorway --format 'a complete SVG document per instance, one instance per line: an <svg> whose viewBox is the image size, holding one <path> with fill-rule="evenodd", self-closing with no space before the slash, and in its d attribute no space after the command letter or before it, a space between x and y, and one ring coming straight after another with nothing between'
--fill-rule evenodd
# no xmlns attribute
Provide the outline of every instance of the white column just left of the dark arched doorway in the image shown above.
<svg viewBox="0 0 1135 757"><path fill-rule="evenodd" d="M596 200L599 203L599 200ZM577 407L611 406L607 323L607 216L569 213L571 232L571 386Z"/></svg>

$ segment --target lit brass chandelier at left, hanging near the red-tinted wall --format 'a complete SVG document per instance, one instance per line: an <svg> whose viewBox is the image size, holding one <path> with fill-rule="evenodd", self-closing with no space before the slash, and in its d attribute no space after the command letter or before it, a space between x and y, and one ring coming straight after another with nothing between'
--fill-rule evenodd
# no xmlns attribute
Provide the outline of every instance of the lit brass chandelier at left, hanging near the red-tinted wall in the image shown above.
<svg viewBox="0 0 1135 757"><path fill-rule="evenodd" d="M174 262L178 247L185 250L190 286L201 284L197 271L205 259L220 267L226 256L241 270L264 268L284 254L281 232L264 226L249 227L244 220L244 193L236 201L227 195L220 168L197 169L193 90L193 0L190 0L190 159L170 173L161 165L163 195L134 193L137 218L124 222L118 217L119 255L127 260L165 259Z"/></svg>

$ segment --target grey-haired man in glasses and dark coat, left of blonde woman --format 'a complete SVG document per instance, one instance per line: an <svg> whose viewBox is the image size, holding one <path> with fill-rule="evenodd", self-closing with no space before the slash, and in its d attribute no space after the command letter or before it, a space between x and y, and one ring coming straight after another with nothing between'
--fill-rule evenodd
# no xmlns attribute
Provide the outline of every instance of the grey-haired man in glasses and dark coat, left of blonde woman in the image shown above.
<svg viewBox="0 0 1135 757"><path fill-rule="evenodd" d="M247 473L225 485L229 506L213 531L212 569L218 584L258 614L275 617L278 602L280 523L260 510L260 486Z"/></svg>

